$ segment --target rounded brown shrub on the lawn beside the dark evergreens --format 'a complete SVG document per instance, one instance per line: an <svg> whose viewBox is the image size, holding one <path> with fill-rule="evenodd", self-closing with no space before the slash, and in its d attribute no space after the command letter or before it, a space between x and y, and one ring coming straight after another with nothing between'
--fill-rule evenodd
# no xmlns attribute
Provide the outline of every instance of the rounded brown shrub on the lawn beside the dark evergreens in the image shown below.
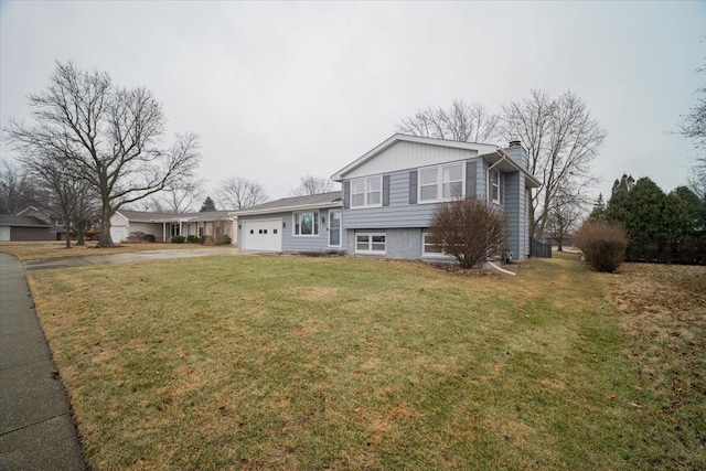
<svg viewBox="0 0 706 471"><path fill-rule="evenodd" d="M588 220L574 235L574 245L596 270L613 272L625 259L628 235L621 224Z"/></svg>

